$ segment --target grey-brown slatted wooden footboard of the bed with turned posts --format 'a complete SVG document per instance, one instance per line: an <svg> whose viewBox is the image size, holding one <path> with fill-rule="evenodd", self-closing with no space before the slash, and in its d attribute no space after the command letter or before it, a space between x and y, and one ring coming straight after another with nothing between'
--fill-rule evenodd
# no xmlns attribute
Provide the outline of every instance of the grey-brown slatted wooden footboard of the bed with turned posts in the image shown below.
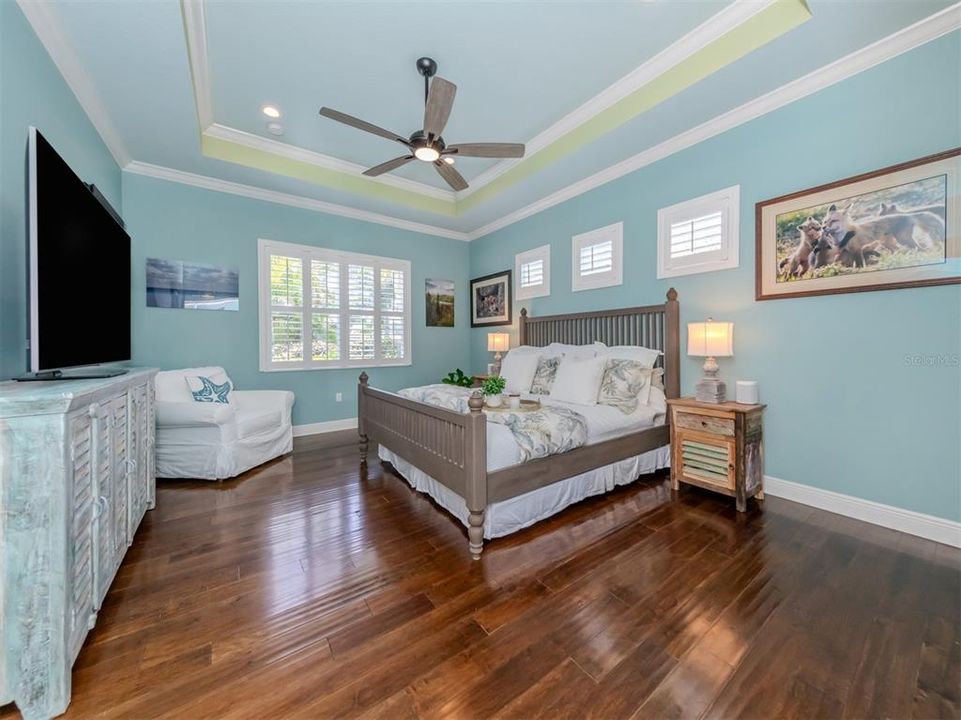
<svg viewBox="0 0 961 720"><path fill-rule="evenodd" d="M396 452L467 501L471 556L480 558L487 510L487 418L484 398L475 391L469 413L425 405L368 385L357 386L360 460L367 462L370 442Z"/></svg>

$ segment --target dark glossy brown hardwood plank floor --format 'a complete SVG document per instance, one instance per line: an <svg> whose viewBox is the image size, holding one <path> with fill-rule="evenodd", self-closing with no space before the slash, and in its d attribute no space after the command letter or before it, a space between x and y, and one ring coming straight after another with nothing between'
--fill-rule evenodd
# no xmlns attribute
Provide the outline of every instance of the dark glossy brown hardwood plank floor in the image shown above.
<svg viewBox="0 0 961 720"><path fill-rule="evenodd" d="M65 717L959 717L959 568L777 498L738 515L672 496L664 475L474 562L389 470L307 442L160 484Z"/></svg>

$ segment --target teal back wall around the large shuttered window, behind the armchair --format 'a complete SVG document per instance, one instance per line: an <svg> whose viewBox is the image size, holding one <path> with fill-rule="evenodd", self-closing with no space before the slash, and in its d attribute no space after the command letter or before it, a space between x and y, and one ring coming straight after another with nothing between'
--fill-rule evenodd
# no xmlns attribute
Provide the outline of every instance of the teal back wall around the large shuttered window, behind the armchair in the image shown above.
<svg viewBox="0 0 961 720"><path fill-rule="evenodd" d="M266 238L411 261L414 364L368 370L372 384L399 389L437 382L454 367L469 365L467 243L131 173L123 178L123 214L133 238L135 363L222 365L240 389L293 390L295 424L356 417L359 369L258 369L257 240ZM148 257L238 267L240 311L146 307ZM425 326L427 278L455 282L455 327ZM337 392L344 395L342 403L334 402Z"/></svg>

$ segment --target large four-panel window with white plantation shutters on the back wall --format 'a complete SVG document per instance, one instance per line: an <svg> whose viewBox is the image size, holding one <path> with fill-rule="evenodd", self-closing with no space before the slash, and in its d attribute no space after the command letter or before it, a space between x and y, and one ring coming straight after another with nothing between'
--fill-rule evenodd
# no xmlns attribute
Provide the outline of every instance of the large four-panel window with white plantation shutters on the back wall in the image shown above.
<svg viewBox="0 0 961 720"><path fill-rule="evenodd" d="M410 263L260 241L261 370L409 365Z"/></svg>

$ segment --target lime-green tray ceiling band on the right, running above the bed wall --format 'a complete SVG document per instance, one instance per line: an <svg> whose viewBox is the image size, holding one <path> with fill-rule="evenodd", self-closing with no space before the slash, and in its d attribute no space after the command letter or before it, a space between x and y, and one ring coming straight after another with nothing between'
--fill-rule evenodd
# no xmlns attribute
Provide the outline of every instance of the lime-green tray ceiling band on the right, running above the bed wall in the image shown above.
<svg viewBox="0 0 961 720"><path fill-rule="evenodd" d="M543 170L551 163L593 142L641 113L647 112L788 30L792 30L810 17L811 11L804 0L776 0L725 35L705 45L643 87L539 152L526 157L500 177L458 202L457 214L460 215L477 207L511 185Z"/></svg>

